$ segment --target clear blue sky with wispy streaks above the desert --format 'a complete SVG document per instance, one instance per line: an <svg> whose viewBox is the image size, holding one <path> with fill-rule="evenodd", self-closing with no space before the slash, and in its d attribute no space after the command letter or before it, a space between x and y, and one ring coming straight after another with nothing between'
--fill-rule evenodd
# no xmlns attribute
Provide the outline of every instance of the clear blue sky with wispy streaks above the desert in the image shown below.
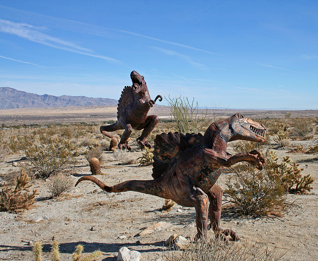
<svg viewBox="0 0 318 261"><path fill-rule="evenodd" d="M0 86L118 99L132 70L152 98L318 109L318 1L0 0Z"/></svg>

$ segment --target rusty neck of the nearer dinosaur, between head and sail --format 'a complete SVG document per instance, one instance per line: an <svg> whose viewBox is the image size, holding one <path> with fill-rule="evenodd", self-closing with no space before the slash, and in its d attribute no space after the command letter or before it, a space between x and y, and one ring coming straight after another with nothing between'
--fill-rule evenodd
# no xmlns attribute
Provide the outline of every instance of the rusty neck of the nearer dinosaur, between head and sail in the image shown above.
<svg viewBox="0 0 318 261"><path fill-rule="evenodd" d="M222 124L211 124L203 136L204 145L213 149L221 157L227 157L227 143L231 138L230 125L226 122Z"/></svg>

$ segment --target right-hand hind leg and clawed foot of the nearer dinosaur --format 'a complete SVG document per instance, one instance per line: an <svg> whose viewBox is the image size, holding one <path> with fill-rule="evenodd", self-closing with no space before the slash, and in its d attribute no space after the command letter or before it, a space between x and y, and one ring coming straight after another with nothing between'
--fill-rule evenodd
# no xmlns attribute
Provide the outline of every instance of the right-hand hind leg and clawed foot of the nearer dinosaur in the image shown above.
<svg viewBox="0 0 318 261"><path fill-rule="evenodd" d="M224 240L237 241L239 237L232 229L222 229L220 227L221 220L221 208L222 208L222 196L223 191L218 185L214 185L208 192L210 205L209 205L209 216L210 224L209 229L213 229L217 237L221 237ZM228 237L230 236L230 237Z"/></svg>

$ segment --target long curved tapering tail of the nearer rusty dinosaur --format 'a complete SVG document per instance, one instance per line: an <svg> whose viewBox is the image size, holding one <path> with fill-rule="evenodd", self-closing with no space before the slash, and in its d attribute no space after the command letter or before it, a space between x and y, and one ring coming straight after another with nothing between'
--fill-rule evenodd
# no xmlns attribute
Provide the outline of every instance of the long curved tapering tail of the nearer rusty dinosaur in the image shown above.
<svg viewBox="0 0 318 261"><path fill-rule="evenodd" d="M153 196L159 196L162 198L169 199L170 197L162 189L162 185L159 184L158 180L129 180L114 186L107 186L100 180L92 176L81 177L75 184L75 187L84 180L89 180L95 183L99 188L106 192L125 192L125 191L136 191L144 194Z"/></svg>

